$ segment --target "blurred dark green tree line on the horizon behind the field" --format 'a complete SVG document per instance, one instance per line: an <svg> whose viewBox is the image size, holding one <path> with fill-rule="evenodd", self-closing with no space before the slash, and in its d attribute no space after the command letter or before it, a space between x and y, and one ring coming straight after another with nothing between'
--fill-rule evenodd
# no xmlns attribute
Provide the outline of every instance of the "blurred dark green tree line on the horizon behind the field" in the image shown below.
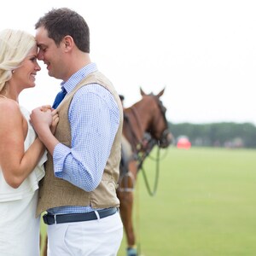
<svg viewBox="0 0 256 256"><path fill-rule="evenodd" d="M169 129L177 143L179 137L189 137L192 146L256 148L256 126L251 123L172 124Z"/></svg>

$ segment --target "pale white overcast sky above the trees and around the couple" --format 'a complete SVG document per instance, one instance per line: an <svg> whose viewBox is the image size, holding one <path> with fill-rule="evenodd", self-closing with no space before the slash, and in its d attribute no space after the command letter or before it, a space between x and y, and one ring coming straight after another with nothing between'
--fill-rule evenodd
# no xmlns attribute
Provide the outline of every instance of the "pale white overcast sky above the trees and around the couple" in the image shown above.
<svg viewBox="0 0 256 256"><path fill-rule="evenodd" d="M233 121L256 125L256 1L41 0L9 1L0 29L35 33L38 18L68 7L90 26L91 59L129 107L166 88L162 101L173 123ZM51 104L60 80L44 63L36 88L20 94L28 109Z"/></svg>

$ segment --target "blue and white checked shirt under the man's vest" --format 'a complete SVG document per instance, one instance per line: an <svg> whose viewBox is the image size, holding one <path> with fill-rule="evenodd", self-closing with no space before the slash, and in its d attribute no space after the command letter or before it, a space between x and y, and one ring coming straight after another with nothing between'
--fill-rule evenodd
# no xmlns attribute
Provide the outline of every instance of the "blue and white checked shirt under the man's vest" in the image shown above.
<svg viewBox="0 0 256 256"><path fill-rule="evenodd" d="M62 82L61 86L70 93L88 74L96 71L96 64L80 69ZM73 96L68 110L71 126L71 148L58 143L55 146L53 161L56 177L92 191L101 182L113 139L119 127L119 108L113 95L99 84L88 84ZM64 214L90 212L91 207L55 207L48 212Z"/></svg>

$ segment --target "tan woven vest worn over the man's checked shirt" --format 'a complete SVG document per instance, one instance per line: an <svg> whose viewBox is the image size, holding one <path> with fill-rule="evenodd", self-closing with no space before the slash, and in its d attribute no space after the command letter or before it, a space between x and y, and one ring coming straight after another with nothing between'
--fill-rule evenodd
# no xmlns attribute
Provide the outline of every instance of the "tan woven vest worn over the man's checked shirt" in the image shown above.
<svg viewBox="0 0 256 256"><path fill-rule="evenodd" d="M121 134L123 128L123 110L119 100L119 95L114 90L113 85L105 78L102 73L90 73L88 77L83 79L74 89L68 94L57 108L60 121L55 131L55 137L67 147L71 146L71 131L68 121L68 108L73 99L73 95L79 88L87 84L101 84L108 89L114 96L119 107L119 129L113 141L111 153L109 155L107 165L105 166L102 181L98 187L86 192L79 189L72 183L57 178L53 172L53 159L48 154L48 161L45 164L45 177L39 183L39 198L37 216L53 207L64 206L90 206L93 208L108 208L119 207L119 199L116 195L117 182L119 179L119 161L121 152Z"/></svg>

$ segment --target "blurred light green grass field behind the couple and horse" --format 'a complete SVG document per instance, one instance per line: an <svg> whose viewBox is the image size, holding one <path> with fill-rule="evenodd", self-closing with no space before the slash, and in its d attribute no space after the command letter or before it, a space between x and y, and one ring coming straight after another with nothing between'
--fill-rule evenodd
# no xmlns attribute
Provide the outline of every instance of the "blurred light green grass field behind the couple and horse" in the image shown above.
<svg viewBox="0 0 256 256"><path fill-rule="evenodd" d="M169 148L156 195L143 173L134 224L143 256L255 256L256 150ZM154 183L155 162L144 169ZM119 256L125 256L125 236Z"/></svg>

